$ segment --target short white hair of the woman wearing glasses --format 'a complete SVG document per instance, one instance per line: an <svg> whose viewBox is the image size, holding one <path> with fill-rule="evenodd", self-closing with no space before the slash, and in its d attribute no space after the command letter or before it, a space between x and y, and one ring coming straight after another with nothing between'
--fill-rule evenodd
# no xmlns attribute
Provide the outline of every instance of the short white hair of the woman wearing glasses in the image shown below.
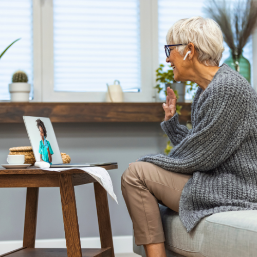
<svg viewBox="0 0 257 257"><path fill-rule="evenodd" d="M218 66L222 59L222 30L212 19L195 16L179 20L169 29L166 39L168 45L185 44L176 47L181 56L187 44L193 43L198 61L207 66Z"/></svg>

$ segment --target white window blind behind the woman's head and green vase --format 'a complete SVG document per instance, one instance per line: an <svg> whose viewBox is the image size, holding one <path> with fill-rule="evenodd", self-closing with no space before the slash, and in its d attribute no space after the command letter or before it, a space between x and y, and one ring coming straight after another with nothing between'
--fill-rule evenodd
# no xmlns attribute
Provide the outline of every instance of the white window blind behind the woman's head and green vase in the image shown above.
<svg viewBox="0 0 257 257"><path fill-rule="evenodd" d="M203 16L205 0L158 0L158 27L159 27L159 63L166 64L166 54L164 52L164 45L167 45L166 35L169 28L178 20L190 18L193 16ZM229 57L229 47L224 42L225 51L219 66ZM252 41L244 47L243 56L250 62L252 67ZM252 76L251 76L252 77ZM186 94L186 100L192 99L192 96Z"/></svg>

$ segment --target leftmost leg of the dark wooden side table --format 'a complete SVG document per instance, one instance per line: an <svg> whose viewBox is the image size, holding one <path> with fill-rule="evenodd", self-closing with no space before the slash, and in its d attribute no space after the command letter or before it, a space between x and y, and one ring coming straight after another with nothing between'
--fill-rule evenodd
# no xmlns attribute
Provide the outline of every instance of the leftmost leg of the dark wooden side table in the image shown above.
<svg viewBox="0 0 257 257"><path fill-rule="evenodd" d="M23 247L35 248L36 216L38 214L39 188L27 188Z"/></svg>

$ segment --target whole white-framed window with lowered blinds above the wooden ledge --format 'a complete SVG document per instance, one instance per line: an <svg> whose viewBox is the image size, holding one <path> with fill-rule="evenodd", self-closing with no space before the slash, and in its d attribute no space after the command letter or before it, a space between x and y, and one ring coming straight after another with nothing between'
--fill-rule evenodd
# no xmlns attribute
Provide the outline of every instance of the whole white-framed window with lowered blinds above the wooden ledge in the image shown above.
<svg viewBox="0 0 257 257"><path fill-rule="evenodd" d="M106 83L114 80L125 102L156 101L167 31L183 17L204 16L203 6L204 0L0 1L0 52L22 38L0 60L0 100L10 99L8 84L21 69L34 102L104 102ZM252 45L244 57L256 70ZM228 56L225 45L221 64Z"/></svg>

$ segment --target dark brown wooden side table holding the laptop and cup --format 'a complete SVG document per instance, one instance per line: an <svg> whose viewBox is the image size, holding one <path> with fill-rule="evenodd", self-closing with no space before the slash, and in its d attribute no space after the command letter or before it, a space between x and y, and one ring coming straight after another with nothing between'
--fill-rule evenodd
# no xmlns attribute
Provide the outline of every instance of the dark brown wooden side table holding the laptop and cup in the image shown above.
<svg viewBox="0 0 257 257"><path fill-rule="evenodd" d="M102 167L106 170L118 168L117 165ZM94 182L102 248L81 249L74 186L92 182ZM27 188L23 247L0 255L0 257L114 257L107 192L88 173L78 169L62 172L44 171L34 167L24 170L0 169L0 187ZM35 248L36 216L40 187L60 187L67 249Z"/></svg>

